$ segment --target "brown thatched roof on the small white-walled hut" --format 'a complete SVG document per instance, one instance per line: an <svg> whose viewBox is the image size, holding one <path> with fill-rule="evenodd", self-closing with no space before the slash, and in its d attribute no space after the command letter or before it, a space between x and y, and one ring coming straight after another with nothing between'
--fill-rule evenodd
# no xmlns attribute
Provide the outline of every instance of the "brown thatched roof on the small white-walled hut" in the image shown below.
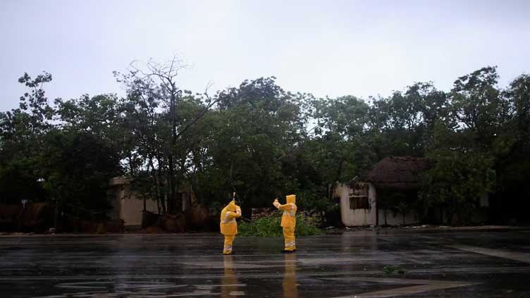
<svg viewBox="0 0 530 298"><path fill-rule="evenodd" d="M387 157L376 163L366 175L366 181L376 187L413 190L419 188L419 175L428 170L429 159L421 157Z"/></svg>

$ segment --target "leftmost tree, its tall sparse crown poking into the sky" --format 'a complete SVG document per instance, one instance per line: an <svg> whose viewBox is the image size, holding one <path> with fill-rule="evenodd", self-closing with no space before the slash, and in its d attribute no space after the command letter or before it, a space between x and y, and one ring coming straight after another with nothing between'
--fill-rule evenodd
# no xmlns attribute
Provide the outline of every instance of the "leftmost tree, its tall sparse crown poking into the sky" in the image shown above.
<svg viewBox="0 0 530 298"><path fill-rule="evenodd" d="M44 85L51 75L44 73L32 79L24 73L18 82L29 88L20 97L20 107L0 113L0 197L10 202L20 199L45 199L39 156L44 135L51 128L54 110L48 104Z"/></svg>

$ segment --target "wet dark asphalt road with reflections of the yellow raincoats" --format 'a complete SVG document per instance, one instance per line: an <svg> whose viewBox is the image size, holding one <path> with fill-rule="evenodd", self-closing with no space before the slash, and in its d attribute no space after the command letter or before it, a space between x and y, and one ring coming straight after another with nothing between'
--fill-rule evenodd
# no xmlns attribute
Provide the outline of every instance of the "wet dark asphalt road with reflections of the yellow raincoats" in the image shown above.
<svg viewBox="0 0 530 298"><path fill-rule="evenodd" d="M0 237L0 297L530 297L530 230ZM406 273L383 272L395 266Z"/></svg>

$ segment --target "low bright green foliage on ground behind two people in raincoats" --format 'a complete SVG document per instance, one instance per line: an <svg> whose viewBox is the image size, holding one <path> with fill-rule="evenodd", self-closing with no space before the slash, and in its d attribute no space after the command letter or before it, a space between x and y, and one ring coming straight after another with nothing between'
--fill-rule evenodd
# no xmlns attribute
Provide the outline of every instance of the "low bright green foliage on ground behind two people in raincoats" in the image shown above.
<svg viewBox="0 0 530 298"><path fill-rule="evenodd" d="M258 218L250 223L241 222L238 225L238 236L254 237L283 237L280 226L281 216L267 216ZM295 236L320 235L320 229L310 218L296 216Z"/></svg>

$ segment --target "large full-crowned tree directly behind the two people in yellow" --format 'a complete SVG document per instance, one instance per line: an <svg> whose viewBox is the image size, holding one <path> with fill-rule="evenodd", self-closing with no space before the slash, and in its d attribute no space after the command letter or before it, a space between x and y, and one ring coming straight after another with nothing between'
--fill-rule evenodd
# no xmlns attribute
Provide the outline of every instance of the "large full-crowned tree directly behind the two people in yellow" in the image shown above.
<svg viewBox="0 0 530 298"><path fill-rule="evenodd" d="M304 129L298 98L269 77L242 82L216 99L208 149L213 166L204 168L208 174L202 177L218 182L218 192L238 190L253 206L269 206L278 194L297 190L297 181L285 175Z"/></svg>

